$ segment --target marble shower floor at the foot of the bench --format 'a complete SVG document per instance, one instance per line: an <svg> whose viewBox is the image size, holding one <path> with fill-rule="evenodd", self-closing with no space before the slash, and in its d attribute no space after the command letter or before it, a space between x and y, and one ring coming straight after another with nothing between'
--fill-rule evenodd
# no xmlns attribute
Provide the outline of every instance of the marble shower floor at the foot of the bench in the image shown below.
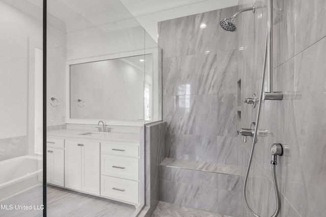
<svg viewBox="0 0 326 217"><path fill-rule="evenodd" d="M232 217L160 201L152 217Z"/></svg>

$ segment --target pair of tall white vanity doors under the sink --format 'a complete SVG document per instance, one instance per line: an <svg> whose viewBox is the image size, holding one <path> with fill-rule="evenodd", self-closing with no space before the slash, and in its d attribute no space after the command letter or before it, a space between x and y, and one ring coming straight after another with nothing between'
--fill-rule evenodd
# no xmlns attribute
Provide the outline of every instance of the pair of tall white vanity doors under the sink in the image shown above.
<svg viewBox="0 0 326 217"><path fill-rule="evenodd" d="M65 187L100 195L100 143L65 140Z"/></svg>

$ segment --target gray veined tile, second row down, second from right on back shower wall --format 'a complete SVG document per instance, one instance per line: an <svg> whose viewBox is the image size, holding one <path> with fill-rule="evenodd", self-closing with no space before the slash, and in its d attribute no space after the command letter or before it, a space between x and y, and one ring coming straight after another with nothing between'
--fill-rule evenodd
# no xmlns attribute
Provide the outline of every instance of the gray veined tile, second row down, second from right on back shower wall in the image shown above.
<svg viewBox="0 0 326 217"><path fill-rule="evenodd" d="M196 55L197 94L216 93L216 67L216 53Z"/></svg>

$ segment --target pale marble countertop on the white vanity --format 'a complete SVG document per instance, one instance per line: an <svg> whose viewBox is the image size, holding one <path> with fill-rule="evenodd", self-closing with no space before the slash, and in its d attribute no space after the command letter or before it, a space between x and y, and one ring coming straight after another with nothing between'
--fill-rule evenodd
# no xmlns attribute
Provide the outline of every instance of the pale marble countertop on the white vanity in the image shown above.
<svg viewBox="0 0 326 217"><path fill-rule="evenodd" d="M78 139L98 142L140 143L139 133L95 132L85 130L62 129L47 132L47 137L62 139Z"/></svg>

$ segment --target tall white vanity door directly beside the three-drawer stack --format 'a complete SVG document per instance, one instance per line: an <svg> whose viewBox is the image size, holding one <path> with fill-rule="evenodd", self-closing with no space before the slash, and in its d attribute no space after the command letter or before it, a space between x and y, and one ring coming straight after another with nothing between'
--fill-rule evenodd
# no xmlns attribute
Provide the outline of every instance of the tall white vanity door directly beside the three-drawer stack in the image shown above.
<svg viewBox="0 0 326 217"><path fill-rule="evenodd" d="M100 144L83 142L82 149L82 191L100 194Z"/></svg>

